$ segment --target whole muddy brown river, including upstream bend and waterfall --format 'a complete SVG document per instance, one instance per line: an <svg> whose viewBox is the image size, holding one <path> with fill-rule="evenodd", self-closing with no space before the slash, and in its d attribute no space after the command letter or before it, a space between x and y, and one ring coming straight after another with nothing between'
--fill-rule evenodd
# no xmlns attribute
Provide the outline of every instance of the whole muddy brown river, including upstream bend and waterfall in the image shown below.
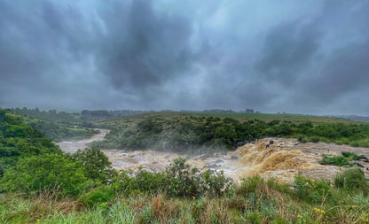
<svg viewBox="0 0 369 224"><path fill-rule="evenodd" d="M107 129L98 129L99 134L89 139L73 142L58 143L60 149L74 153L78 149L87 147L87 143L101 141L109 132ZM220 172L239 180L243 177L260 174L265 178L277 178L279 182L293 182L294 175L302 174L314 179L333 179L345 167L322 166L318 161L322 154L339 155L342 151L353 151L369 157L368 148L354 148L348 145L334 143L298 143L292 138L264 138L239 147L236 151L215 151L200 155L184 155L169 151L125 151L102 150L112 166L119 171L137 170L162 171L178 157L187 158L187 163L196 167L200 172ZM369 177L369 163L360 161L365 166L363 170ZM368 168L368 170L366 169Z"/></svg>

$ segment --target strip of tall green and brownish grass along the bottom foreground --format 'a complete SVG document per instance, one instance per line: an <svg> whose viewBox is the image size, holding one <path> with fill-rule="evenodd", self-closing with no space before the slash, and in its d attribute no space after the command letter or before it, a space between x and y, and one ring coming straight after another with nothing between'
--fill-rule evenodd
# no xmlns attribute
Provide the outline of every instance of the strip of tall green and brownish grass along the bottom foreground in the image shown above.
<svg viewBox="0 0 369 224"><path fill-rule="evenodd" d="M351 174L352 173L352 174ZM357 171L343 178L367 188ZM250 177L223 197L117 195L87 206L80 199L0 195L1 223L368 223L369 197L299 177L279 184ZM294 187L294 189L291 189ZM327 194L329 192L329 194Z"/></svg>

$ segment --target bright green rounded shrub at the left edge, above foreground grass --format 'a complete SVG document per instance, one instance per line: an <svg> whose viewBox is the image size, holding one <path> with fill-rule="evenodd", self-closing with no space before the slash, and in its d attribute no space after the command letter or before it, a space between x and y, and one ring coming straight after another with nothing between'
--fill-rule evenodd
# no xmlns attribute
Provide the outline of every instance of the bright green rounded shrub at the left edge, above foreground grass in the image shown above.
<svg viewBox="0 0 369 224"><path fill-rule="evenodd" d="M4 174L1 189L25 193L48 190L61 195L78 195L86 184L81 162L59 154L44 154L20 159Z"/></svg>

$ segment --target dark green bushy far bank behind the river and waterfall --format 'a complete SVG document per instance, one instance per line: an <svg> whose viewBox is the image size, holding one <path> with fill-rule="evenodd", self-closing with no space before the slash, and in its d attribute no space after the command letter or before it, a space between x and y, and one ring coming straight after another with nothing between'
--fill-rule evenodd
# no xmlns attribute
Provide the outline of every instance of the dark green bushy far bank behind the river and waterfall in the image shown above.
<svg viewBox="0 0 369 224"><path fill-rule="evenodd" d="M92 146L126 150L232 150L238 143L254 141L263 136L298 137L302 143L325 141L369 146L369 124L365 123L344 120L329 120L328 123L316 117L310 118L315 122L295 120L302 118L297 115L290 115L293 121L271 120L270 114L264 115L263 120L250 120L250 117L242 116L248 114L262 119L263 114L239 113L241 117L234 117L234 114L238 113L226 117L224 113L219 116L200 116L172 112L98 121L95 125L110 128L112 132L106 135L106 141L93 143ZM287 115L280 116L287 119Z"/></svg>

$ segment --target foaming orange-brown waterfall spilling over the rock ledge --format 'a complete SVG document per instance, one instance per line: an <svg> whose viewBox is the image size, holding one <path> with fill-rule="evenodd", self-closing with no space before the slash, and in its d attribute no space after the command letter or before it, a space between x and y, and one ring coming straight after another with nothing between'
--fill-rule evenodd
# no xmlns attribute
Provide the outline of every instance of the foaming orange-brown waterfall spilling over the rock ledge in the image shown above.
<svg viewBox="0 0 369 224"><path fill-rule="evenodd" d="M332 180L346 167L320 165L318 161L321 155L326 154L326 151L332 156L342 151L353 151L348 145L297 143L297 140L291 138L263 138L255 144L248 143L240 147L239 161L248 166L244 176L259 174L265 178L276 177L280 182L293 182L294 175L301 174L313 179ZM366 148L355 148L354 152L366 156L369 151ZM360 164L360 167L363 165ZM365 170L365 176L369 176L368 171Z"/></svg>

